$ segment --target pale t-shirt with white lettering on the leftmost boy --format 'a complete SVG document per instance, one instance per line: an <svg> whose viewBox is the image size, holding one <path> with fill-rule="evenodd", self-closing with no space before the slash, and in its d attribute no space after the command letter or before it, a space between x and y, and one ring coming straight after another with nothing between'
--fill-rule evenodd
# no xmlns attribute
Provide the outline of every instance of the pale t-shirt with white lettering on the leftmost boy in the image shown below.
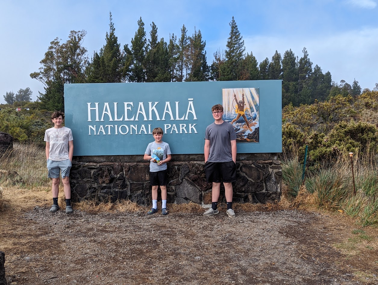
<svg viewBox="0 0 378 285"><path fill-rule="evenodd" d="M50 143L50 160L66 160L68 156L68 141L73 140L69 128L50 128L45 131L45 142Z"/></svg>

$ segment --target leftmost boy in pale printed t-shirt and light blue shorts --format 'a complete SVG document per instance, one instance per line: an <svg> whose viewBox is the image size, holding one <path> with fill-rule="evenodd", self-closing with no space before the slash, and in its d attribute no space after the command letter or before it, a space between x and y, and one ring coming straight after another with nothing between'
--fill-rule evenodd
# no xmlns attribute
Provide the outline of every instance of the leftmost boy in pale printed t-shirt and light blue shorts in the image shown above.
<svg viewBox="0 0 378 285"><path fill-rule="evenodd" d="M47 129L45 132L46 142L46 160L48 177L52 179L53 186L53 206L50 212L59 210L58 194L59 194L59 174L62 172L62 182L64 195L66 198L66 213L73 212L71 206L71 186L70 186L70 169L72 166L73 156L73 137L71 129L63 126L64 113L55 111L51 115L54 127Z"/></svg>

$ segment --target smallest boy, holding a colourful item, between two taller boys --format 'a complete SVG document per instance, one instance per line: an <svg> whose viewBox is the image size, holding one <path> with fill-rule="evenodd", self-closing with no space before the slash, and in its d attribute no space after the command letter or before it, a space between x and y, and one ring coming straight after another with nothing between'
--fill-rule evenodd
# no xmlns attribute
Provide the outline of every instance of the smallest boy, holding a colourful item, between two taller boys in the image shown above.
<svg viewBox="0 0 378 285"><path fill-rule="evenodd" d="M161 190L161 213L168 214L167 210L167 162L171 159L169 144L163 142L163 129L155 128L152 131L154 142L149 143L144 152L144 160L150 160L150 184L152 187L152 208L147 212L152 215L157 212L158 186Z"/></svg>

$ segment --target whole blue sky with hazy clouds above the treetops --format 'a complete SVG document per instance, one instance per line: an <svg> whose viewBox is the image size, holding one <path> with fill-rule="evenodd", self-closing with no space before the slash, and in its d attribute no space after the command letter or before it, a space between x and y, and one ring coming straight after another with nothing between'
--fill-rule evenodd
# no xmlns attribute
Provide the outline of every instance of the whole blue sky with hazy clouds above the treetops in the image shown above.
<svg viewBox="0 0 378 285"><path fill-rule="evenodd" d="M224 50L232 16L243 36L246 52L257 61L271 60L277 50L281 56L293 50L302 56L307 48L313 66L332 80L356 79L362 89L378 83L378 0L183 0L183 1L9 1L0 9L0 103L3 95L30 87L33 100L43 85L29 74L38 71L50 42L65 42L71 30L85 30L83 46L88 54L105 44L109 30L109 11L113 15L118 42L130 44L139 17L147 35L150 23L159 38L180 36L183 25L188 35L194 27L206 40L208 64L213 53Z"/></svg>

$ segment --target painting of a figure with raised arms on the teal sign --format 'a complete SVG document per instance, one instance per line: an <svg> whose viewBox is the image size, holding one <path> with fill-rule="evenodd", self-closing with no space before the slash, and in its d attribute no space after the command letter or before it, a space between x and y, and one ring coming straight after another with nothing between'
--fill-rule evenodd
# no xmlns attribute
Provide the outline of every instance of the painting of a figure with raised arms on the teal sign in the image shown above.
<svg viewBox="0 0 378 285"><path fill-rule="evenodd" d="M260 142L259 88L222 89L223 120L235 128L236 142Z"/></svg>

